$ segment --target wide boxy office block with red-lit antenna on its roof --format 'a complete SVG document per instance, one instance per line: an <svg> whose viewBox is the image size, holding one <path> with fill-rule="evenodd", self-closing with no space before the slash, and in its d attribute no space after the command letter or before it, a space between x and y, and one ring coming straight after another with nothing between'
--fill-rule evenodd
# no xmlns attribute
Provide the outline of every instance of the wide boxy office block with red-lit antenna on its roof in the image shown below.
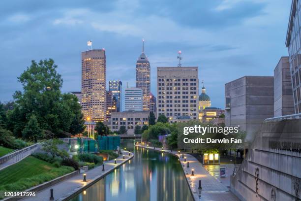
<svg viewBox="0 0 301 201"><path fill-rule="evenodd" d="M169 122L198 118L198 67L157 67L157 116Z"/></svg>

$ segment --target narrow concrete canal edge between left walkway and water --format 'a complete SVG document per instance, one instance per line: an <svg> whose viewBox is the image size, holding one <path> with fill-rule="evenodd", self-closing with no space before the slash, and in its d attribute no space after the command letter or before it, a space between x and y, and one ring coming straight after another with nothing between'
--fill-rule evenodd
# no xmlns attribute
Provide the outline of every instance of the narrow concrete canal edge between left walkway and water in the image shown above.
<svg viewBox="0 0 301 201"><path fill-rule="evenodd" d="M109 173L111 173L112 171L114 171L116 168L120 167L121 165L123 165L124 163L128 162L130 159L132 159L134 157L134 154L131 153L131 156L128 157L126 160L122 161L122 163L118 164L117 166L114 166L112 168L110 168L108 171L106 171L104 174L101 174L99 176L94 177L92 180L88 181L87 184L85 186L79 187L77 189L74 189L72 192L64 195L62 198L58 199L57 201L68 201L71 198L77 196L78 194L80 194L83 190L89 188L90 186L92 186L93 184L95 184L97 181L99 181L100 179L102 179L103 177L105 177L106 175L108 175Z"/></svg>

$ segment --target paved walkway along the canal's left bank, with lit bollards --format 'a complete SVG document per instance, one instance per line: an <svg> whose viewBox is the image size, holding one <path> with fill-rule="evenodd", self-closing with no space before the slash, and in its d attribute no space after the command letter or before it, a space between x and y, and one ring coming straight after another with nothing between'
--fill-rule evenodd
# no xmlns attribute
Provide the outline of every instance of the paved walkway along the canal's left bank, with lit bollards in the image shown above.
<svg viewBox="0 0 301 201"><path fill-rule="evenodd" d="M22 201L49 201L50 189L53 189L54 191L55 201L67 201L68 199L73 197L74 194L87 189L92 184L112 172L117 167L120 167L122 164L126 163L133 157L133 153L131 153L131 155L129 156L128 151L121 152L122 154L116 159L117 164L115 164L115 160L104 163L105 171L102 171L102 166L97 166L84 172L86 173L87 182L83 182L83 174L81 173L37 192L35 197L28 197L22 199Z"/></svg>

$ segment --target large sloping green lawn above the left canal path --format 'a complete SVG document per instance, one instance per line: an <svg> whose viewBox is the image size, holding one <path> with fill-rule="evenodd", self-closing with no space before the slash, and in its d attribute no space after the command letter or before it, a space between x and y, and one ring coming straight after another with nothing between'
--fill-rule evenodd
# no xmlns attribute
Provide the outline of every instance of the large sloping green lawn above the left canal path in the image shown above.
<svg viewBox="0 0 301 201"><path fill-rule="evenodd" d="M73 167L55 167L51 163L29 156L0 171L0 191L26 190L72 171Z"/></svg>

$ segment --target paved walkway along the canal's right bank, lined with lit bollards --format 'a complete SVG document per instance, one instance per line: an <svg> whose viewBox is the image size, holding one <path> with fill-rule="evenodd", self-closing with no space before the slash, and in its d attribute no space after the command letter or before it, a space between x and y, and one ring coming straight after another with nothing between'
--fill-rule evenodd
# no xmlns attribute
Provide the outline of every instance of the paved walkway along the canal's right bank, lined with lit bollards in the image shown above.
<svg viewBox="0 0 301 201"><path fill-rule="evenodd" d="M141 145L135 146L142 147ZM177 150L171 152L171 150L162 150L161 148L145 146L143 146L143 148L166 152L179 158L195 201L239 201L225 185L214 178L203 165L190 154L181 152L180 155L178 155ZM186 157L186 162L184 162L182 156L184 156L184 158ZM189 167L187 167L187 162L189 162ZM194 169L194 176L191 175L192 169ZM199 180L202 181L202 189L199 189Z"/></svg>

